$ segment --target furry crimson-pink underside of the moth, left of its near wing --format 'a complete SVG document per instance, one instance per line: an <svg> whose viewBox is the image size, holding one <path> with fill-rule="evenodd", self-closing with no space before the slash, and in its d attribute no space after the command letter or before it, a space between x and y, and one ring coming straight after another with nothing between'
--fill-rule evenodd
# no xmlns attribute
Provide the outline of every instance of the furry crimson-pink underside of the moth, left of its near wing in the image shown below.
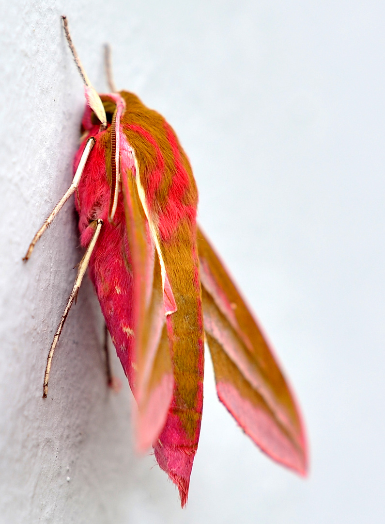
<svg viewBox="0 0 385 524"><path fill-rule="evenodd" d="M122 363L124 373L133 387L133 276L128 270L131 255L128 248L126 217L123 197L119 195L114 217L115 224L107 219L110 204L110 186L106 178L105 150L98 144L99 126L94 126L96 144L90 154L75 199L79 213L81 244L86 247L93 234L88 224L95 219L104 221L98 243L89 263L89 276L94 283L101 311L106 320L112 342ZM83 148L78 151L75 166ZM128 264L127 264L128 263Z"/></svg>

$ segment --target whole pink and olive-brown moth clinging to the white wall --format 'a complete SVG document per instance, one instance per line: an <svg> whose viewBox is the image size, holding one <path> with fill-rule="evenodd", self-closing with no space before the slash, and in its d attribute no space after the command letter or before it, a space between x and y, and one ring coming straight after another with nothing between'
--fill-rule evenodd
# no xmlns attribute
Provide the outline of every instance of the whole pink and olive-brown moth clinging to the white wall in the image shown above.
<svg viewBox="0 0 385 524"><path fill-rule="evenodd" d="M136 95L115 89L108 60L110 93L98 95L62 18L85 84L81 146L71 187L25 260L73 193L86 251L48 356L43 397L88 267L138 405L138 449L153 447L182 507L199 440L205 341L221 402L262 451L304 475L299 409L261 329L197 226L197 188L174 130Z"/></svg>

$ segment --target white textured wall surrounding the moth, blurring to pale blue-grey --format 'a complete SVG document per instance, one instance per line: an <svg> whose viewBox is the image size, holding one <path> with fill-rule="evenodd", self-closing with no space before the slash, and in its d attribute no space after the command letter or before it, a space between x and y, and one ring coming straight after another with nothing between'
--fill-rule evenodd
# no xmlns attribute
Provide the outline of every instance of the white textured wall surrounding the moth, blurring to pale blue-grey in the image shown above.
<svg viewBox="0 0 385 524"><path fill-rule="evenodd" d="M216 398L207 358L186 510L132 451L131 394L108 391L66 205L90 79L164 114L190 157L200 223L261 320L303 408L311 473L269 461ZM385 521L385 8L355 0L15 0L0 19L0 524ZM120 365L113 362L122 377Z"/></svg>

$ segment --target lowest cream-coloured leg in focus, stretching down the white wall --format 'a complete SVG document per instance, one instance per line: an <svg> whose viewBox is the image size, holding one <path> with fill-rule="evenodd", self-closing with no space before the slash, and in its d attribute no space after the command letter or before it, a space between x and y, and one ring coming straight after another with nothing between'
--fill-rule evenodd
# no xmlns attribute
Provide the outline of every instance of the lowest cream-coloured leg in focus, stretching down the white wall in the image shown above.
<svg viewBox="0 0 385 524"><path fill-rule="evenodd" d="M101 226L103 225L103 220L98 219L94 223L96 225L95 232L94 232L93 237L91 238L91 241L90 241L90 243L89 243L89 245L87 247L87 250L86 250L86 252L84 254L84 257L82 258L82 260L80 261L80 264L78 266L74 287L72 288L72 291L71 291L71 294L70 294L70 298L68 299L68 302L67 302L67 305L65 307L65 310L64 310L64 313L62 315L62 318L60 320L58 329L56 330L55 336L53 337L51 349L50 349L50 352L48 354L46 373L44 373L43 398L47 398L48 379L49 379L49 376L50 376L52 357L53 357L53 353L55 351L56 344L59 341L59 337L60 337L60 334L62 332L62 329L63 329L63 326L64 326L64 322L65 322L65 320L67 318L68 313L70 312L71 306L72 306L74 300L76 300L77 292L78 292L78 290L79 290L79 288L81 286L84 274L86 272L86 269L87 269L87 266L88 266L88 263L89 263L89 259L91 258L91 255L92 255L92 252L94 250L96 241L98 239L98 236L99 236L99 233L100 233L100 230L101 230Z"/></svg>

